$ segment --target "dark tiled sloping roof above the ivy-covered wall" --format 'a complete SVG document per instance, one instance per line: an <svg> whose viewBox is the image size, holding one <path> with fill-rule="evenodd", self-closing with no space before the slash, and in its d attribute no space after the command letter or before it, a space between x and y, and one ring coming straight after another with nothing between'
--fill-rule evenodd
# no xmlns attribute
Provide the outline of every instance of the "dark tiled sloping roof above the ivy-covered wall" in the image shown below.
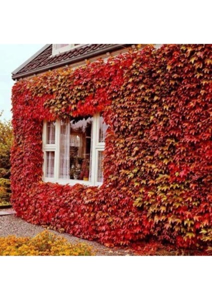
<svg viewBox="0 0 212 300"><path fill-rule="evenodd" d="M34 73L59 67L68 63L74 63L92 56L106 53L108 51L118 50L129 46L129 44L82 44L69 51L62 52L52 56L52 44L43 48L35 57L13 71L12 79L26 77Z"/></svg>

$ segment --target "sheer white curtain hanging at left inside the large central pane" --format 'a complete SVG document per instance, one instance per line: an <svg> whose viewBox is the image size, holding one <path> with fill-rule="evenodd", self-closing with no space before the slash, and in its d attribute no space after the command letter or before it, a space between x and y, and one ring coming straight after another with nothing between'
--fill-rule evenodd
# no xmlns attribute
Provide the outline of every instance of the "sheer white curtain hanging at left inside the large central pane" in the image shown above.
<svg viewBox="0 0 212 300"><path fill-rule="evenodd" d="M60 122L59 178L70 179L70 124Z"/></svg>

